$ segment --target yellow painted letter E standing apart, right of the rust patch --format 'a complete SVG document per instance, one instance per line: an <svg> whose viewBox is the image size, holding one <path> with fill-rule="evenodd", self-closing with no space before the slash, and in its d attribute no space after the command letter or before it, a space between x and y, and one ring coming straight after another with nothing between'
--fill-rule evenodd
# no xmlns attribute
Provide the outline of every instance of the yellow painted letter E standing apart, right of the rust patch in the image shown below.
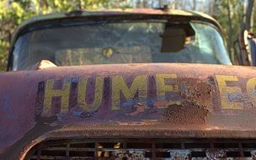
<svg viewBox="0 0 256 160"><path fill-rule="evenodd" d="M227 81L238 81L236 76L224 76L216 75L216 81L219 85L220 96L221 96L221 108L222 109L243 109L243 103L231 102L228 98L232 94L242 95L241 88L227 87Z"/></svg>

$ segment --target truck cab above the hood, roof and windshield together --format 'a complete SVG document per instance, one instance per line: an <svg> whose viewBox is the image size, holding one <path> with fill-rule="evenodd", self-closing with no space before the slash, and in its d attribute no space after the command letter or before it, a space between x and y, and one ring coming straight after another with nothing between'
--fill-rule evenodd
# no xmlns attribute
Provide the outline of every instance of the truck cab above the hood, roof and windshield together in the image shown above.
<svg viewBox="0 0 256 160"><path fill-rule="evenodd" d="M42 60L60 67L159 62L232 64L220 25L205 14L127 12L75 11L32 19L14 35L8 70L28 70Z"/></svg>

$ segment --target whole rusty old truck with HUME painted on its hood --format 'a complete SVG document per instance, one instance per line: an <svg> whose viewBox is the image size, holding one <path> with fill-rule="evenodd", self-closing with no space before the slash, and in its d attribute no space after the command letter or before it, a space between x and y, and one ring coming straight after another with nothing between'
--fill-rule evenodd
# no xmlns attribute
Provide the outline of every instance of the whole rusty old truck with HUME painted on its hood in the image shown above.
<svg viewBox="0 0 256 160"><path fill-rule="evenodd" d="M0 159L255 159L256 69L230 57L204 13L32 18L0 74Z"/></svg>

